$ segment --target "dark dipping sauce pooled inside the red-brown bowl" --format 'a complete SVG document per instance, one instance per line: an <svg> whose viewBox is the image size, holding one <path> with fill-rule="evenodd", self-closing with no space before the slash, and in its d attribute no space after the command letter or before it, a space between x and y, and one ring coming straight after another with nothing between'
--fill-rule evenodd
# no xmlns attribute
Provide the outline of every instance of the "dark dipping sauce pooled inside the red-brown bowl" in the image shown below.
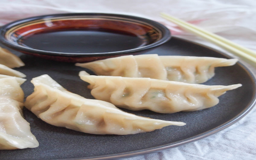
<svg viewBox="0 0 256 160"><path fill-rule="evenodd" d="M62 53L103 53L135 49L147 39L135 35L92 30L62 30L21 37L18 43L36 50Z"/></svg>

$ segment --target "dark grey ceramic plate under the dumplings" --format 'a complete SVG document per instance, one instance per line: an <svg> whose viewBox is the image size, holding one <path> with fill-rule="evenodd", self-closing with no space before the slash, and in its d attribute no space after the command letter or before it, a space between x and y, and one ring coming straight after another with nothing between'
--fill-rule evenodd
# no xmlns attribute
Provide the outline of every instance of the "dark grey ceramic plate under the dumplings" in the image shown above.
<svg viewBox="0 0 256 160"><path fill-rule="evenodd" d="M21 55L18 52L14 53ZM216 50L175 37L163 46L148 52L153 53L230 58ZM25 67L17 69L27 75L28 81L22 85L26 96L34 89L30 83L31 78L49 74L69 91L93 99L90 90L87 89L87 83L78 77L78 72L84 70L83 68L72 63L49 61L31 55L22 54L20 57L26 63ZM94 135L56 127L43 122L25 108L25 118L30 123L31 132L39 141L39 147L1 150L1 159L113 159L184 145L225 129L252 109L255 102L255 79L241 63L217 68L216 75L205 84L238 83L243 86L221 95L217 106L201 111L158 114L149 110L125 110L140 116L187 123L186 126L167 126L161 130L134 135Z"/></svg>

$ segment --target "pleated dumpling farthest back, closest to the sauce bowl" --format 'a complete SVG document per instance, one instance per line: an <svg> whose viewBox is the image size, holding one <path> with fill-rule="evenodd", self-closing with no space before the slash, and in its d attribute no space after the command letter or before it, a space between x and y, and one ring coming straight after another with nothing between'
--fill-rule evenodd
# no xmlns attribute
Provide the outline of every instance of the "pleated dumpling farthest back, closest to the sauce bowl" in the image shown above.
<svg viewBox="0 0 256 160"><path fill-rule="evenodd" d="M214 76L215 67L232 66L236 62L237 59L145 54L76 63L76 66L103 76L146 77L199 84Z"/></svg>

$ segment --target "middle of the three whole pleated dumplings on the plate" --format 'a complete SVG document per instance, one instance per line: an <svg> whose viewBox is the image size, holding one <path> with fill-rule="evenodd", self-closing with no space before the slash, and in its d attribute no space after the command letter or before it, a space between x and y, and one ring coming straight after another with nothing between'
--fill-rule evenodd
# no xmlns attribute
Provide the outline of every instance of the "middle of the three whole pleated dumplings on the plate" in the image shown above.
<svg viewBox="0 0 256 160"><path fill-rule="evenodd" d="M131 110L149 109L157 113L194 111L215 106L218 97L241 84L207 86L150 78L91 76L85 71L81 79L90 83L95 99Z"/></svg>

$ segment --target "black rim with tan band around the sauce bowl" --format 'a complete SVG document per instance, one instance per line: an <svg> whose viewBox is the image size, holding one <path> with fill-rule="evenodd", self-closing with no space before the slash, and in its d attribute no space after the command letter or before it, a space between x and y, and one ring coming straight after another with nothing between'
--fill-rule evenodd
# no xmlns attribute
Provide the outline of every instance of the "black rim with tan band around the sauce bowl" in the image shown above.
<svg viewBox="0 0 256 160"><path fill-rule="evenodd" d="M141 21L141 23L146 23L147 25L151 25L155 28L157 28L159 31L162 32L162 38L159 39L159 41L154 42L152 44L146 45L146 46L141 46L137 47L134 49L130 50L123 50L123 51L115 51L115 52L102 52L102 53L65 53L65 52L52 52L52 51L44 51L44 50L37 50L33 49L30 47L25 47L21 46L15 43L12 43L8 41L5 38L6 32L18 25L21 25L23 23L27 23L30 21L35 21L35 20L43 20L43 19L49 19L49 18L57 18L57 17L75 17L75 16L92 16L92 17L100 17L100 16L105 16L105 17L117 17L117 18L126 18L126 19L131 19L131 20L137 20ZM148 49L152 49L154 47L157 47L159 45L162 45L169 41L171 39L171 31L162 25L159 22L142 18L142 17L136 17L133 15L126 15L126 14L114 14L114 13L61 13L61 14L46 14L46 15L39 15L36 17L30 17L30 18L25 18L25 19L20 19L17 21L13 21L11 23L7 23L3 27L0 28L0 42L2 42L4 45L10 47L11 49L18 50L20 52L27 52L27 53L36 53L36 54L43 54L43 55L52 55L52 56L61 56L61 57L94 57L94 56L106 56L106 55L118 55L118 54L129 54L129 53L136 53Z"/></svg>

